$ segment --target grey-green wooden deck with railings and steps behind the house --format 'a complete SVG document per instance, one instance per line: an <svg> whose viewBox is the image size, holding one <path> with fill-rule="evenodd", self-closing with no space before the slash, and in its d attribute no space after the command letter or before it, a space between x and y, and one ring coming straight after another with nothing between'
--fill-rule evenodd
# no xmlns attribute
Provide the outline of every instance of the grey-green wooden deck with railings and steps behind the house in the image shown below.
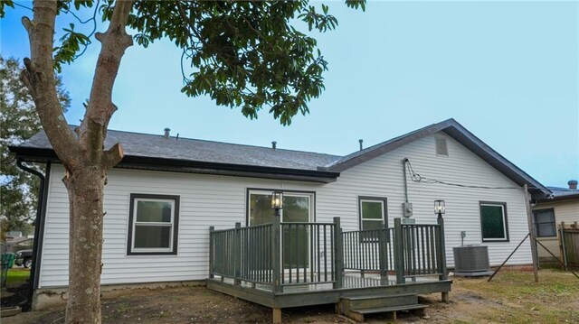
<svg viewBox="0 0 579 324"><path fill-rule="evenodd" d="M207 288L273 310L335 304L351 319L399 310L423 311L418 295L448 301L444 225L403 225L343 232L333 223L210 227Z"/></svg>

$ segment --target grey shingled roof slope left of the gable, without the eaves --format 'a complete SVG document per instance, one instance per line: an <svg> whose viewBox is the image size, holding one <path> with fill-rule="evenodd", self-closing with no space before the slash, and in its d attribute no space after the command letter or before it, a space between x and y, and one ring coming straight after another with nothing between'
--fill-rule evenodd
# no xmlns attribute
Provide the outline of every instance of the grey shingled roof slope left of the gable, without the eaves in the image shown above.
<svg viewBox="0 0 579 324"><path fill-rule="evenodd" d="M340 156L272 149L252 145L220 143L190 138L169 137L109 130L105 147L122 143L125 156L162 158L182 161L252 165L271 168L318 171L318 166L337 161ZM52 149L41 131L18 145L35 149Z"/></svg>

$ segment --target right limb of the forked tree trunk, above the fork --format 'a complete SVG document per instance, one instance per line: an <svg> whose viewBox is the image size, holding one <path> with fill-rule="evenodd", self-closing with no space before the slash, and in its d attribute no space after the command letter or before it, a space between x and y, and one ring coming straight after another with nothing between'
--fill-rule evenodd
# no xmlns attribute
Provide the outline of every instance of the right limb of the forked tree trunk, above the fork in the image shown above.
<svg viewBox="0 0 579 324"><path fill-rule="evenodd" d="M89 105L80 128L81 144L90 162L102 162L107 127L110 117L117 110L112 103L112 89L125 50L133 44L133 39L125 31L132 5L133 1L117 1L107 31L95 33L101 48L92 79Z"/></svg>

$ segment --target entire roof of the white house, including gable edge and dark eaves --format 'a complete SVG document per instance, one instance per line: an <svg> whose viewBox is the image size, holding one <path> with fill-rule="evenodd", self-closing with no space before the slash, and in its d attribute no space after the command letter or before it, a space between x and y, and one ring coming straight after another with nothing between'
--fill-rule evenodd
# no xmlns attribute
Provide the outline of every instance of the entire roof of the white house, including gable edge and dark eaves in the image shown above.
<svg viewBox="0 0 579 324"><path fill-rule="evenodd" d="M438 132L450 135L517 185L527 184L536 199L545 198L551 194L546 187L491 149L489 145L483 143L454 119L422 127L346 156L189 138L166 138L163 135L114 130L108 131L105 147L109 148L114 143L122 143L125 157L119 163L119 168L327 183L336 181L341 171L346 171L406 143ZM17 153L18 158L24 161L58 161L43 131L24 143L10 147L10 150Z"/></svg>

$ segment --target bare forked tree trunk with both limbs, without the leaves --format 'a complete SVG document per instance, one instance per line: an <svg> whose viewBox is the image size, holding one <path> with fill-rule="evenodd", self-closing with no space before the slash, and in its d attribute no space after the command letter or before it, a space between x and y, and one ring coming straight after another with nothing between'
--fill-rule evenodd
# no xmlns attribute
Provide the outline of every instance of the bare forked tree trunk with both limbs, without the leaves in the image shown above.
<svg viewBox="0 0 579 324"><path fill-rule="evenodd" d="M56 0L34 1L33 22L23 24L28 32L31 59L24 59L21 79L31 95L54 152L66 169L63 181L69 192L69 301L67 323L100 323L100 271L102 254L103 198L107 171L123 157L119 143L104 151L107 126L117 107L112 88L120 60L132 45L125 32L132 1L115 3L106 32L95 33L101 43L89 104L81 126L74 134L62 114L53 71Z"/></svg>

